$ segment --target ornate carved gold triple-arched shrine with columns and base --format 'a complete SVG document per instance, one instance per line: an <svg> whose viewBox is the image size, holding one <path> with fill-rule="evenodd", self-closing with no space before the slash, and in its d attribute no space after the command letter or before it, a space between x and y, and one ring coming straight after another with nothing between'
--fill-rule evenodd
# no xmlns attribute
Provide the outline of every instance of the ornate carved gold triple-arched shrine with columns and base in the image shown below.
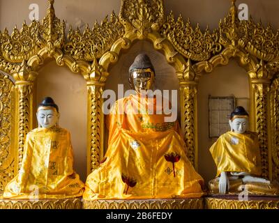
<svg viewBox="0 0 279 223"><path fill-rule="evenodd" d="M122 0L112 13L83 32L70 29L54 12L54 0L41 22L24 23L11 34L0 33L0 191L22 164L24 139L33 128L34 82L45 61L80 73L87 87L87 174L98 168L104 151L101 97L109 68L124 49L148 40L176 70L180 84L181 129L188 158L197 167L197 84L204 73L236 59L250 80L250 123L257 132L262 176L279 180L279 31L252 18L240 21L236 0L218 29L202 31L183 17L165 13L163 0ZM45 202L45 203L44 203ZM0 208L81 208L81 201L0 201ZM252 202L252 204L251 204ZM204 206L205 203L205 206ZM84 208L279 208L279 200L183 199L94 201Z"/></svg>

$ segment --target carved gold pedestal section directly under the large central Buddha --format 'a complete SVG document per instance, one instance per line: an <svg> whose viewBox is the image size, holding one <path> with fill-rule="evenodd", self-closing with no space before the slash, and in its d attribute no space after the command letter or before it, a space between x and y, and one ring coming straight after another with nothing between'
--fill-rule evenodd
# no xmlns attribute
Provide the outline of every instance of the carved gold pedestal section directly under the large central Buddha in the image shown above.
<svg viewBox="0 0 279 223"><path fill-rule="evenodd" d="M83 201L84 209L203 209L204 199Z"/></svg>

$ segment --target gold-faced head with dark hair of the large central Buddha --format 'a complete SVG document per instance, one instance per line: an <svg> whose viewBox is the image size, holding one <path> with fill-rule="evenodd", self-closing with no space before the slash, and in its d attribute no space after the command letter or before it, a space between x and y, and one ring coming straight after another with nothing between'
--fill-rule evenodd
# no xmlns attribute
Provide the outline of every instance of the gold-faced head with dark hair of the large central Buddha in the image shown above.
<svg viewBox="0 0 279 223"><path fill-rule="evenodd" d="M134 63L129 68L129 82L137 93L151 90L154 84L155 72L153 65L146 54L136 56Z"/></svg>

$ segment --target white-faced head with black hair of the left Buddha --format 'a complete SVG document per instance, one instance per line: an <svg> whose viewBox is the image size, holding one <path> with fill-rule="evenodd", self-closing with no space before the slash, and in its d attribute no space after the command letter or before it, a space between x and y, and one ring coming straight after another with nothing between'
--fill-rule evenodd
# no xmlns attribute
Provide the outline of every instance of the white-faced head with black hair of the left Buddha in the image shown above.
<svg viewBox="0 0 279 223"><path fill-rule="evenodd" d="M59 109L50 97L45 97L37 109L37 120L40 128L52 128L58 124Z"/></svg>

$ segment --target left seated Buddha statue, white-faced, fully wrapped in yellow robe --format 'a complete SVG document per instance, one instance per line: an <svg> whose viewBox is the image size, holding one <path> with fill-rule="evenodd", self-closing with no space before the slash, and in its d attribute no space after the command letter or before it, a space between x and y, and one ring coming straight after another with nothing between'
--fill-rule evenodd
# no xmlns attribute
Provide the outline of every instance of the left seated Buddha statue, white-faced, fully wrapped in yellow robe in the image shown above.
<svg viewBox="0 0 279 223"><path fill-rule="evenodd" d="M27 134L22 166L6 185L4 199L81 197L84 183L73 170L70 132L59 127L59 107L46 97L38 106L38 128Z"/></svg>

